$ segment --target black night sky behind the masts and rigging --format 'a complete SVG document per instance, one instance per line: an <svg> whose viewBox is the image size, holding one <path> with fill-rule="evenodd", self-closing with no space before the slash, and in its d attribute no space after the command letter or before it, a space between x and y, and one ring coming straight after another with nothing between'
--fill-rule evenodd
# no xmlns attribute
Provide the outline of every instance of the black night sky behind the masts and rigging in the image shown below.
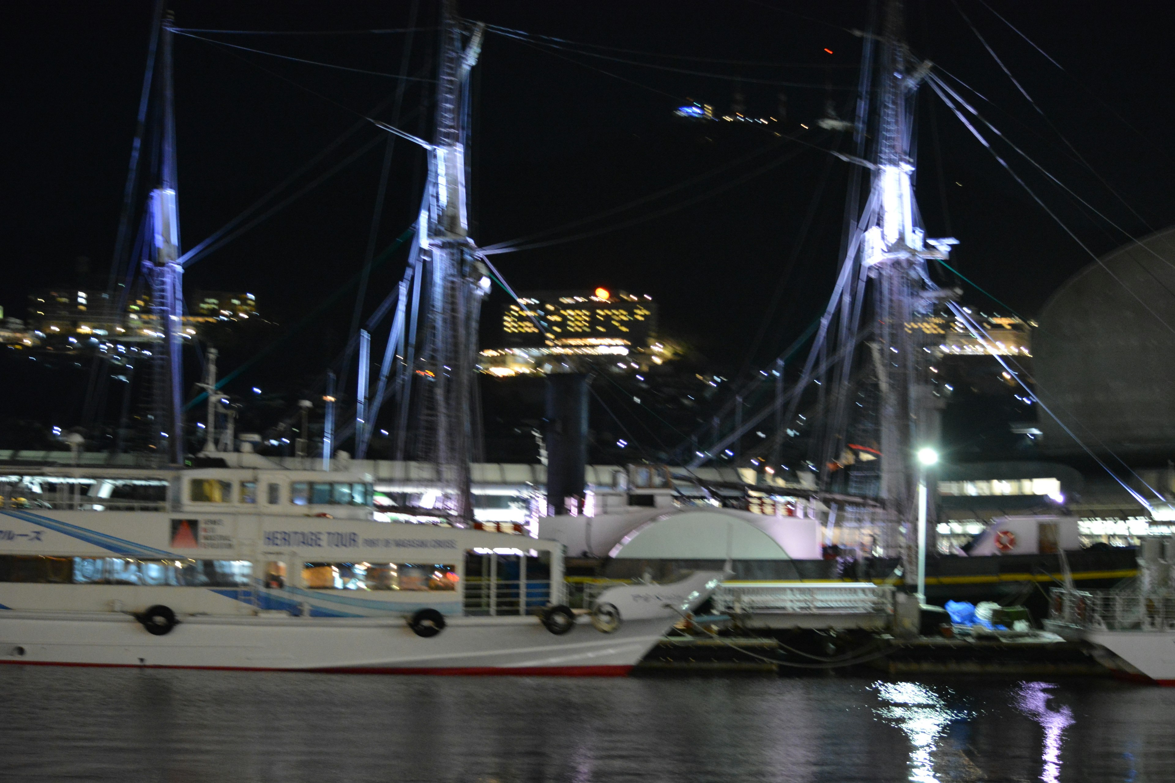
<svg viewBox="0 0 1175 783"><path fill-rule="evenodd" d="M409 7L407 0L173 4L180 27L222 29L402 27ZM1175 200L1168 187L1175 173L1169 151L1175 148L1169 94L1175 73L1170 14L1164 6L992 0L995 11L1065 72L981 1L959 0L958 7L974 21L1047 120L1018 93L953 2L907 4L908 38L915 53L979 90L988 101L975 99L985 116L1128 231L1141 235L1175 222ZM31 288L74 281L76 256L89 256L94 270L105 278L152 4L20 1L8 4L6 12L0 47L6 59L7 109L0 305L20 317ZM436 12L435 0L423 1L421 26L434 26ZM706 140L705 133L672 120L672 109L686 96L726 110L734 79L741 76L748 114L770 115L776 110L776 94L783 89L791 107L790 129L818 119L830 94L838 108L844 108L851 93L842 88L855 82L860 39L842 28L868 23L868 5L845 0L466 1L462 13L585 43L797 63L773 67L656 60L717 74L691 75L558 53L571 56L571 62L550 50L490 35L477 67L474 112L475 238L483 245L605 210L774 141L767 134L737 133L728 127L717 128L718 133ZM400 34L214 38L392 73L398 69L404 40ZM434 33L416 35L414 70L429 61L434 45ZM825 53L825 47L833 54ZM644 54L599 52L653 60ZM356 121L356 114L333 101L363 112L395 89L388 79L246 52L233 54L188 38L177 40L175 62L186 247L235 216ZM831 93L830 85L834 88ZM419 107L421 95L418 87L408 90L405 113ZM427 134L418 119L407 119L403 124ZM1074 160L1059 131L1096 176ZM343 146L343 154L380 133L363 128ZM804 139L826 148L845 144L824 131L813 130ZM297 320L360 266L382 149L377 146L290 208L194 265L186 286L248 290L274 320ZM781 304L756 355L758 360L767 359L791 342L828 295L848 168L839 161L830 164L824 153L794 146L765 153L756 161L774 160L788 149L799 154L766 174L664 217L584 241L499 255L494 261L522 290L606 285L651 293L660 303L664 330L691 340L716 369L727 371L737 370L747 358L773 292L781 286ZM1061 282L1090 261L928 90L919 101L919 198L928 234L956 236L961 242L958 268L1026 316L1034 315ZM1092 221L1062 191L1030 174L1023 161L1007 153L1005 157L1094 251L1103 252L1126 241L1124 235ZM422 162L421 150L403 143L396 148L381 247L411 220L419 198ZM658 203L667 205L703 194L753 168L732 168ZM792 265L793 247L821 177L827 181L813 211L812 230ZM600 225L652 209L625 212ZM400 257L375 276L369 309L398 278L402 263ZM974 304L987 305L975 292L967 296ZM489 309L496 311L499 304L495 299ZM255 370L257 374L242 377L241 384L257 383L280 369L293 367L306 376L321 371L333 356L331 345L345 333L349 308L348 303L328 312L311 339L277 352L268 366Z"/></svg>

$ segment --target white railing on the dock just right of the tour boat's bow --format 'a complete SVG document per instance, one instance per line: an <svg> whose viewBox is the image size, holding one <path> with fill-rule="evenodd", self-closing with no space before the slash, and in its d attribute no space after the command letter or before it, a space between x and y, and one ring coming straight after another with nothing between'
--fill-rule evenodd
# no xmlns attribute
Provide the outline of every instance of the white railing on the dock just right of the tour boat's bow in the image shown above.
<svg viewBox="0 0 1175 783"><path fill-rule="evenodd" d="M714 592L714 610L731 614L889 614L894 588L864 582L797 585L724 582Z"/></svg>

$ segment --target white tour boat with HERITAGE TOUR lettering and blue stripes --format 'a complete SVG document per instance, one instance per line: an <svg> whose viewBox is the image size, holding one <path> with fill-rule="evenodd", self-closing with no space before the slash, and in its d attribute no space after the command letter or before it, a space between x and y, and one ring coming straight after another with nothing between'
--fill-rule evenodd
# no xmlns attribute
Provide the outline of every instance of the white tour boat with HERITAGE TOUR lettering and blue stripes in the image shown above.
<svg viewBox="0 0 1175 783"><path fill-rule="evenodd" d="M0 497L0 662L620 675L721 579L573 610L562 545L375 521L367 475L164 470L142 501L116 491L141 477L69 472L72 497Z"/></svg>

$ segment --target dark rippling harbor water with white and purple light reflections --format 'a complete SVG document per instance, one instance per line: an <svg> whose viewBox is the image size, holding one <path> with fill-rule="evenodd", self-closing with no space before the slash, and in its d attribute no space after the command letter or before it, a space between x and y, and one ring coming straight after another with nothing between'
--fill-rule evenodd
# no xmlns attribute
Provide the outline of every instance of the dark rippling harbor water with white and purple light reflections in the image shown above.
<svg viewBox="0 0 1175 783"><path fill-rule="evenodd" d="M1173 781L1108 680L428 677L0 667L2 781Z"/></svg>

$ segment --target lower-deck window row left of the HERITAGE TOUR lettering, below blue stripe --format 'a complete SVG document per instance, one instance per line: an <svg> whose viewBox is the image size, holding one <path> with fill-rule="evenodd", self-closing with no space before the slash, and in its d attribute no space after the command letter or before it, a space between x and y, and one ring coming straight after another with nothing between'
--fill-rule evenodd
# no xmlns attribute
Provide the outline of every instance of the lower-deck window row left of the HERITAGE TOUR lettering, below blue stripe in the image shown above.
<svg viewBox="0 0 1175 783"><path fill-rule="evenodd" d="M251 579L253 563L248 560L0 555L0 582L248 587Z"/></svg>

